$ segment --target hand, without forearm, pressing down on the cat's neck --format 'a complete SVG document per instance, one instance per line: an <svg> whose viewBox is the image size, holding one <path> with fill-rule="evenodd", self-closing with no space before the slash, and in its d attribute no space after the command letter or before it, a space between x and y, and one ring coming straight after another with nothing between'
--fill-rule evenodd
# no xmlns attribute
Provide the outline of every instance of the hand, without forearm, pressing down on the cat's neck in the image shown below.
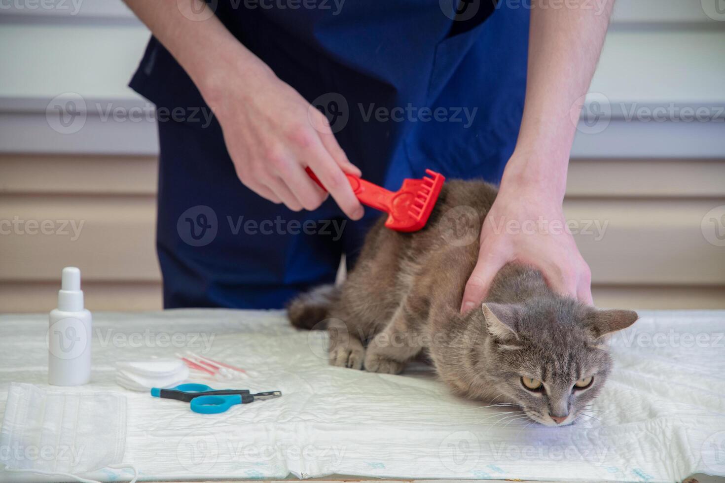
<svg viewBox="0 0 725 483"><path fill-rule="evenodd" d="M461 311L479 306L502 266L537 267L562 295L592 304L592 275L566 230L561 203L546 188L502 185L481 228L479 261L465 285Z"/></svg>

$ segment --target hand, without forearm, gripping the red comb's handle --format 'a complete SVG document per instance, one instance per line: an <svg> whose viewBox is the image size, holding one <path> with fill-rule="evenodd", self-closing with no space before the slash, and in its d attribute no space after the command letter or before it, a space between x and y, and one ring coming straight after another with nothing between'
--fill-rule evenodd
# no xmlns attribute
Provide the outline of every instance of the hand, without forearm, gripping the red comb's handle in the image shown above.
<svg viewBox="0 0 725 483"><path fill-rule="evenodd" d="M327 193L307 176L309 166L348 217L363 217L345 177L360 176L360 169L348 161L327 118L268 69L250 75L247 66L244 74L223 68L221 80L202 93L222 126L239 180L291 210L313 210Z"/></svg>

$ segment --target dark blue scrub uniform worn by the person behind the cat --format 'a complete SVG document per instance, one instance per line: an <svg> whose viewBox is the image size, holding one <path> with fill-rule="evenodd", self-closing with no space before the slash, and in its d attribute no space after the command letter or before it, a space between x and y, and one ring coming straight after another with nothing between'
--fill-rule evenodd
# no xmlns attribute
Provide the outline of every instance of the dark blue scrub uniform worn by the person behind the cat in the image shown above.
<svg viewBox="0 0 725 483"><path fill-rule="evenodd" d="M430 168L498 182L521 124L529 9L473 0L459 9L463 21L446 3L209 2L244 46L323 109L366 179L397 189ZM166 308L280 308L332 282L341 253L354 263L378 211L351 222L328 199L295 213L244 187L218 122L207 121L194 83L155 38L130 85L159 112Z"/></svg>

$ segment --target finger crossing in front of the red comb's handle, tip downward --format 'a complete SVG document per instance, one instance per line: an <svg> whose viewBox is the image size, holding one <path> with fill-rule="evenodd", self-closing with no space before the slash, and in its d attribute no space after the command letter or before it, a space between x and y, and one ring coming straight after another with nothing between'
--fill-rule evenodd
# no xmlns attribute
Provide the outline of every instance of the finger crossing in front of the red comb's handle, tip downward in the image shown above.
<svg viewBox="0 0 725 483"><path fill-rule="evenodd" d="M351 219L363 217L363 205L350 188L347 176L327 152L320 138L310 146L309 164L340 209Z"/></svg>

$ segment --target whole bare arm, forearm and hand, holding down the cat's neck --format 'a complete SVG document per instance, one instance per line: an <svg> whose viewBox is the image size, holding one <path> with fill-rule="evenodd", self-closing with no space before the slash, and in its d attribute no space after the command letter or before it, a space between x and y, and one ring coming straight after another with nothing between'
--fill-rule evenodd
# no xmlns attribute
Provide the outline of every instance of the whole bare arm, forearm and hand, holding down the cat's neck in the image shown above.
<svg viewBox="0 0 725 483"><path fill-rule="evenodd" d="M481 230L476 269L461 311L478 305L509 261L537 266L550 287L592 303L591 274L566 227L561 203L581 102L604 42L613 0L601 9L586 0L555 8L531 3L529 69L521 130L499 195ZM539 219L542 223L539 223ZM519 232L507 230L513 222ZM523 230L526 225L533 230Z"/></svg>

